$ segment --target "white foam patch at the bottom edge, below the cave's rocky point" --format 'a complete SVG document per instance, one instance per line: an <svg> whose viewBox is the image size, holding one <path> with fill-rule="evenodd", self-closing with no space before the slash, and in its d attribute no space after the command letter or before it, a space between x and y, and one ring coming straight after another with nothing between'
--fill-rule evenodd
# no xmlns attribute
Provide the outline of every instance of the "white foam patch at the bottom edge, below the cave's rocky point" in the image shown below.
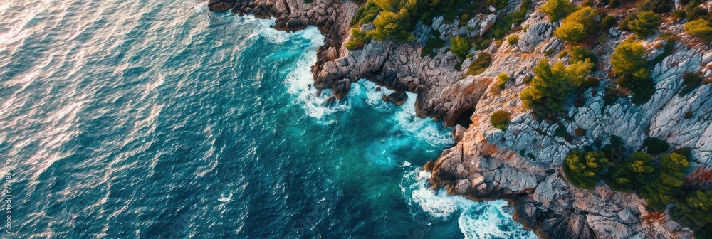
<svg viewBox="0 0 712 239"><path fill-rule="evenodd" d="M505 201L472 201L464 196L452 196L446 191L431 191L428 179L431 174L416 169L404 175L401 183L403 197L417 213L424 213L436 221L449 221L457 217L461 232L468 239L485 238L536 238L532 231L503 211Z"/></svg>

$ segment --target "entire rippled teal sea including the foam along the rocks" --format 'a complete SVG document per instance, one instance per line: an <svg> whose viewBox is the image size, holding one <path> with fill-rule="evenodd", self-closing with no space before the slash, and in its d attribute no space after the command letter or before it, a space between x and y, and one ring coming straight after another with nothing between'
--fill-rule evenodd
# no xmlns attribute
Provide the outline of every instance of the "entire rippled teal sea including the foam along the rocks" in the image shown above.
<svg viewBox="0 0 712 239"><path fill-rule="evenodd" d="M2 238L531 238L431 191L449 130L375 83L325 105L310 27L204 1L1 1ZM306 46L308 45L308 46Z"/></svg>

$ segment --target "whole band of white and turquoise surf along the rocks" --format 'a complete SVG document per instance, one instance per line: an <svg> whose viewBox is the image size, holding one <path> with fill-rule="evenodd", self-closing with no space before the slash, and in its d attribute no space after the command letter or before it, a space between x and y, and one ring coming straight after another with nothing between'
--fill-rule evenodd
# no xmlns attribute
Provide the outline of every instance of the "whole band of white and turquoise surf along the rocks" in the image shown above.
<svg viewBox="0 0 712 239"><path fill-rule="evenodd" d="M317 119L317 122L331 124L339 117L334 117L335 112L344 112L351 107L371 107L379 112L393 112L389 122L392 122L394 132L404 132L406 137L391 137L385 141L375 141L367 147L366 158L375 166L384 169L410 166L408 161L397 159L394 153L402 147L409 147L414 140L424 140L431 145L444 147L454 144L454 139L448 129L441 123L434 122L431 117L418 117L415 113L417 95L407 92L408 100L403 105L397 106L392 102L382 100L382 95L388 95L393 90L381 87L368 80L359 80L353 83L345 100L334 101L325 105L325 100L333 95L332 90L317 91L313 84L311 66L316 61L315 51L324 38L314 27L308 27L296 33L275 31L271 28L261 31L260 36L268 35L269 41L285 42L295 41L304 44L297 38L308 41L308 46L300 55L297 65L286 77L285 83L288 92L295 95L295 104L305 110L305 114ZM451 196L446 191L431 191L427 180L430 174L419 169L404 175L401 183L402 196L409 204L415 217L426 216L434 221L450 221L457 218L459 228L465 238L535 238L530 231L523 230L522 226L515 223L510 213L503 211L505 201L476 202L463 196Z"/></svg>

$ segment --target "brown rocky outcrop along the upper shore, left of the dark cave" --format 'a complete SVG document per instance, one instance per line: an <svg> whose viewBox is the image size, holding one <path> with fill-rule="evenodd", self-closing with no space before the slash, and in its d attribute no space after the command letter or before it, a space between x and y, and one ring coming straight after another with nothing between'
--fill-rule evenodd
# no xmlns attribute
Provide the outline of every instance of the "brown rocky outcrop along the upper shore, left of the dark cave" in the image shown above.
<svg viewBox="0 0 712 239"><path fill-rule="evenodd" d="M318 26L326 36L326 42L319 48L318 60L312 68L314 87L332 88L339 100L347 95L350 83L367 78L398 92L419 93L419 114L444 117L445 124L451 126L462 112L474 107L490 85L491 77L496 75L466 77L464 70L454 70L461 60L447 51L448 46L437 49L434 57L422 57L420 54L425 41L434 37L431 36L432 30L439 31L440 38L445 41L453 36L481 36L493 26L495 15L480 14L468 21L466 26L446 24L439 17L431 26L418 23L414 31L416 41L412 43L372 41L360 50L349 51L345 48L345 42L350 38L350 19L358 8L352 1L209 1L209 8L213 11L225 11L226 6L234 7L232 12L236 14L275 17L274 28L285 31L298 31L308 25ZM372 27L371 24L362 26ZM466 59L465 62L471 60Z"/></svg>

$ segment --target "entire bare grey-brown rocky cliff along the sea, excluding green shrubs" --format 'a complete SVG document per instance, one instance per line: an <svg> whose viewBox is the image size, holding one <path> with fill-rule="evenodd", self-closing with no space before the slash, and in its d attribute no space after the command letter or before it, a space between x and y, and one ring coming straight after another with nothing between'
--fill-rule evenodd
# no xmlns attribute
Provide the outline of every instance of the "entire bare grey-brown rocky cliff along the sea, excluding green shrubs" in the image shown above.
<svg viewBox="0 0 712 239"><path fill-rule="evenodd" d="M533 1L522 24L525 27L511 33L519 36L515 45L492 44L471 50L471 55L486 51L493 58L491 66L479 75L455 70L459 58L447 48L440 48L434 57L421 57L420 51L432 29L441 32L439 37L445 41L453 36L481 36L495 23L494 14L475 16L466 26L436 18L431 26L418 23L412 42L373 41L360 50L349 51L345 48L351 37L349 23L358 9L352 1L210 0L209 8L274 17L275 28L286 31L318 26L327 40L313 66L314 85L333 88L338 98L347 95L352 82L367 78L400 92L416 92L419 115L441 117L448 126L469 118L468 127L458 125L454 130L456 146L426 164L426 169L433 171L432 184L475 200L505 198L516 206L515 219L542 238L692 238L691 230L671 221L667 213L647 211L646 202L639 196L612 191L602 183L592 191L575 188L563 178L561 164L571 149L605 144L612 134L631 147L639 147L646 137L659 137L673 147L692 149L697 161L689 169L686 184L710 186L712 84L701 85L683 97L677 92L683 73L701 71L705 78L712 77L711 47L681 34L683 39L674 45L673 53L654 66L652 78L657 90L649 102L633 105L624 97L605 105L604 87L613 82L609 55L630 34L609 29L590 43L600 58L592 75L601 78L602 85L580 94L585 99L582 107L567 102L568 112L562 122L570 134L575 130L583 134L557 137L554 132L558 125L534 120L518 97L535 64L543 58L558 60L557 53L565 45L553 37L559 23L549 22L537 10L543 3ZM510 1L502 11L514 11L520 4ZM661 28L681 33L682 26L664 23ZM644 41L649 58L663 51L664 42L657 36ZM472 60L465 59L463 68ZM493 90L493 78L499 73L511 76L502 91ZM513 112L506 132L488 122L496 110ZM693 116L685 117L687 112L693 112Z"/></svg>

